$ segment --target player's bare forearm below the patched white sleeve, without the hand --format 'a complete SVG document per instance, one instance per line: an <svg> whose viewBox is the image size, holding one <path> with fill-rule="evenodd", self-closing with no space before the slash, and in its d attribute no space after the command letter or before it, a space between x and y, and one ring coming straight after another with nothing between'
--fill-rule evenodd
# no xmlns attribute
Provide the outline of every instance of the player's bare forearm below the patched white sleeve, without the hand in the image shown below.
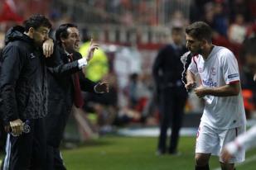
<svg viewBox="0 0 256 170"><path fill-rule="evenodd" d="M231 97L239 95L240 87L239 84L225 85L222 87L206 88L205 91L205 95L215 97Z"/></svg>

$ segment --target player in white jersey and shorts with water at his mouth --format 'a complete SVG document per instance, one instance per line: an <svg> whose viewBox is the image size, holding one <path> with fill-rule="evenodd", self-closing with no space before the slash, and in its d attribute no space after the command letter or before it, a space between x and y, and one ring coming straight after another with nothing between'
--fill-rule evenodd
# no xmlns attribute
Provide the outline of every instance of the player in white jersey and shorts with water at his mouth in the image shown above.
<svg viewBox="0 0 256 170"><path fill-rule="evenodd" d="M212 31L205 22L197 21L186 27L186 47L193 54L187 70L186 88L204 98L205 109L196 139L196 170L209 169L211 155L220 156L224 145L245 130L245 112L240 92L239 68L234 54L225 47L213 45ZM220 166L233 170L234 163L244 161L244 149Z"/></svg>

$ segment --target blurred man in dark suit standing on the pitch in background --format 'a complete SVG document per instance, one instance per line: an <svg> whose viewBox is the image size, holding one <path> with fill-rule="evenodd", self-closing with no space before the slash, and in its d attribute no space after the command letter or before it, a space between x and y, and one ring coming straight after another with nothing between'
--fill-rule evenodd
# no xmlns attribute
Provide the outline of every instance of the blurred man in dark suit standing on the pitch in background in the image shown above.
<svg viewBox="0 0 256 170"><path fill-rule="evenodd" d="M157 54L153 64L153 78L157 86L159 110L161 114L160 136L157 154L177 153L179 130L181 128L187 92L181 82L183 65L181 55L186 52L182 45L183 33L181 27L171 29L173 43L166 45ZM170 145L167 149L167 129L171 126Z"/></svg>

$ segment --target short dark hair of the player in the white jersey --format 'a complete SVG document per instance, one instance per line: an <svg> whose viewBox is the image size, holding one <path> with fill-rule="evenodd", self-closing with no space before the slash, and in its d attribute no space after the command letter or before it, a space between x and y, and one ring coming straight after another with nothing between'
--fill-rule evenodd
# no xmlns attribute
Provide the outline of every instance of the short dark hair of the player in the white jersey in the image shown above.
<svg viewBox="0 0 256 170"><path fill-rule="evenodd" d="M212 30L208 24L203 21L196 21L186 27L186 34L191 35L197 40L207 40L211 42Z"/></svg>

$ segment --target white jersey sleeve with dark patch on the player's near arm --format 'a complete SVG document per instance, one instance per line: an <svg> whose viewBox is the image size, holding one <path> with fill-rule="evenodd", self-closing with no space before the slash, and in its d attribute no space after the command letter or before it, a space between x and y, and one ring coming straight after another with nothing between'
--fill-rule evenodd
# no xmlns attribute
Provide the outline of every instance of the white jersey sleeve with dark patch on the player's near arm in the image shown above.
<svg viewBox="0 0 256 170"><path fill-rule="evenodd" d="M239 66L232 52L226 52L222 60L223 77L226 84L237 83L239 78Z"/></svg>

